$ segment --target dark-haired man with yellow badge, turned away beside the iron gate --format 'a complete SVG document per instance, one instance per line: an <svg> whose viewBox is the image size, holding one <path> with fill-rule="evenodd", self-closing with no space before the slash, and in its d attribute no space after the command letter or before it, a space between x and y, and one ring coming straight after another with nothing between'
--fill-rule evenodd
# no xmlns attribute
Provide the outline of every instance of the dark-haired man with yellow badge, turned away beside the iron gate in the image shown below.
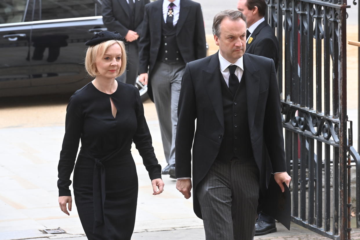
<svg viewBox="0 0 360 240"><path fill-rule="evenodd" d="M278 69L279 45L273 29L265 21L265 0L239 0L238 10L246 16L246 53L271 58ZM255 236L276 232L275 219L259 213L255 224Z"/></svg>

